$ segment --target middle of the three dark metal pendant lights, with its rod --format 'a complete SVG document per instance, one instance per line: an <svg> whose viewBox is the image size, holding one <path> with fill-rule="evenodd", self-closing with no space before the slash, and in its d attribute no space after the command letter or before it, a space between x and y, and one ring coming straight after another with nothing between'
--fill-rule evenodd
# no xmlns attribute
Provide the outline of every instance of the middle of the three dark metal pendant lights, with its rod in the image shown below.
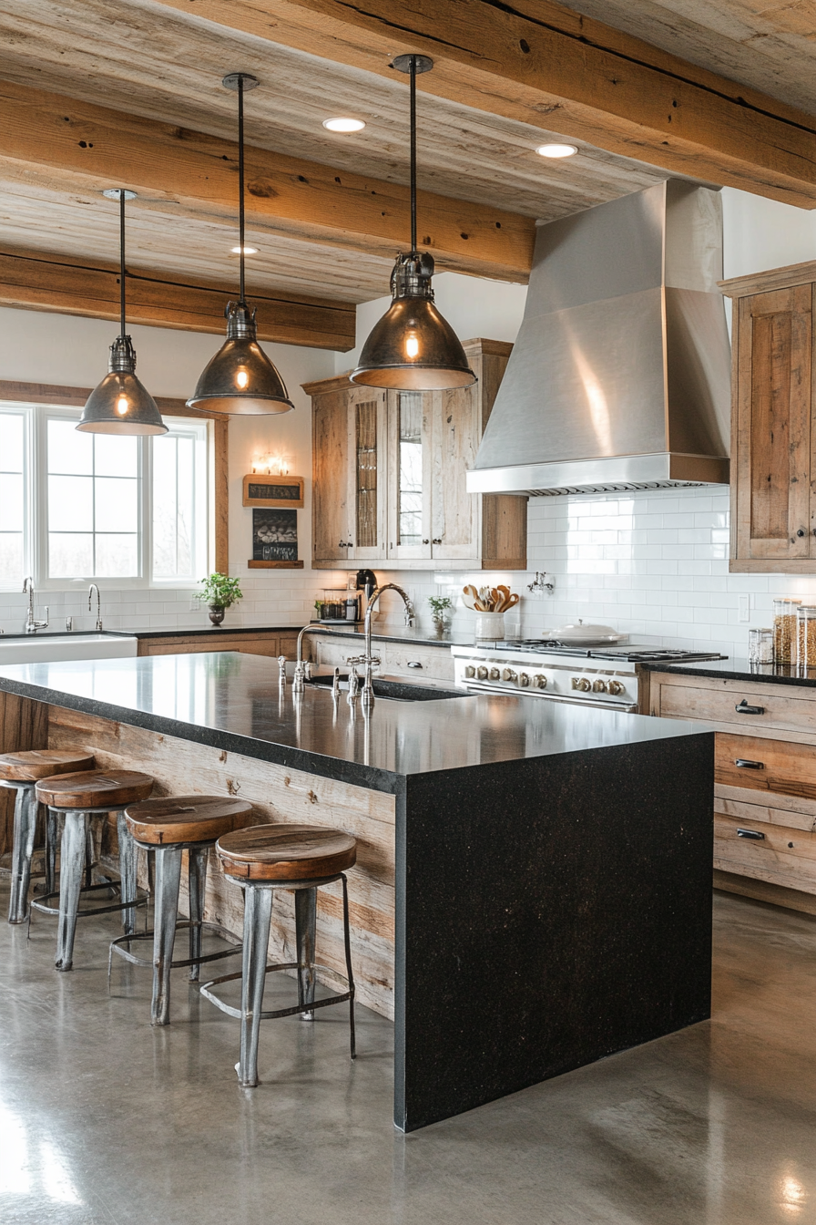
<svg viewBox="0 0 816 1225"><path fill-rule="evenodd" d="M283 379L257 341L254 311L246 303L243 292L243 92L254 89L258 78L248 72L230 72L221 85L239 94L239 260L241 287L237 303L228 303L226 341L204 369L188 408L206 408L208 413L258 417L264 413L287 413L295 405L289 398Z"/></svg>

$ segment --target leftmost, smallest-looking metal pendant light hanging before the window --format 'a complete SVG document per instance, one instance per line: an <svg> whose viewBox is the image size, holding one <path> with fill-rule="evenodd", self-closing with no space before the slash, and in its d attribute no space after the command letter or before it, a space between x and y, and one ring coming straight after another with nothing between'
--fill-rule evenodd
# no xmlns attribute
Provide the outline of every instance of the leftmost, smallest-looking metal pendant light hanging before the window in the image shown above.
<svg viewBox="0 0 816 1225"><path fill-rule="evenodd" d="M110 347L108 374L82 409L77 430L84 434L166 434L168 428L149 391L136 377L136 349L125 334L125 201L135 191L110 187L108 200L119 200L119 336Z"/></svg>

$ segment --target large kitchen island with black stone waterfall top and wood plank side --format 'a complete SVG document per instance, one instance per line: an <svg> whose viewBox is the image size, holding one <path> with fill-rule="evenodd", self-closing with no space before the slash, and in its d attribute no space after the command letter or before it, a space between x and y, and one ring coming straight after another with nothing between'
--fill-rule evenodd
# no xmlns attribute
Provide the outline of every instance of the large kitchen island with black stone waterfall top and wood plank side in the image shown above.
<svg viewBox="0 0 816 1225"><path fill-rule="evenodd" d="M399 1128L710 1014L713 735L696 724L465 693L366 714L237 653L6 666L0 691L39 703L49 747L92 747L159 794L240 795L258 822L357 839L355 978L394 1019ZM208 888L207 918L239 932L237 891ZM340 897L321 892L340 969ZM274 958L292 959L292 909L273 911Z"/></svg>

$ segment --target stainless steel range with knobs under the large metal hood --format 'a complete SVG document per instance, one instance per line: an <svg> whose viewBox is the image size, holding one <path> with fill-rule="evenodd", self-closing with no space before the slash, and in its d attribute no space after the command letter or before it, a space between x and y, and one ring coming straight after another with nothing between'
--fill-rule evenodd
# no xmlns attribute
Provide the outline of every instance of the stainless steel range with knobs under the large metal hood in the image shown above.
<svg viewBox="0 0 816 1225"><path fill-rule="evenodd" d="M488 693L521 693L553 702L637 709L637 664L727 658L716 652L648 646L565 647L527 638L484 647L451 647L458 685Z"/></svg>

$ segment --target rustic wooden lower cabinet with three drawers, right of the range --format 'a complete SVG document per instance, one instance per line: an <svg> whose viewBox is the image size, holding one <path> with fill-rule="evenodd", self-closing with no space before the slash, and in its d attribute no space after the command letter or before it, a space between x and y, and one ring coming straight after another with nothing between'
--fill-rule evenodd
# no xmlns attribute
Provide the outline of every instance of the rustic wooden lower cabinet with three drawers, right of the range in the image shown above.
<svg viewBox="0 0 816 1225"><path fill-rule="evenodd" d="M714 886L816 914L816 688L669 673L645 681L645 713L717 731Z"/></svg>

